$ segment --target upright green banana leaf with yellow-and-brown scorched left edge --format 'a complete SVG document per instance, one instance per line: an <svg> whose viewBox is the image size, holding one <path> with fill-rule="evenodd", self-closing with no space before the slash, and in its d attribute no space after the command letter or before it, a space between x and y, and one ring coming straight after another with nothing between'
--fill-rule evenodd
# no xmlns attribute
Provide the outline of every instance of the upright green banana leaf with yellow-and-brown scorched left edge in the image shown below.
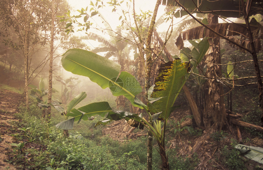
<svg viewBox="0 0 263 170"><path fill-rule="evenodd" d="M151 97L162 98L149 105L152 113L162 112L162 118L169 117L173 111L175 99L185 83L185 74L189 67L189 62L181 63L181 60L161 64Z"/></svg>

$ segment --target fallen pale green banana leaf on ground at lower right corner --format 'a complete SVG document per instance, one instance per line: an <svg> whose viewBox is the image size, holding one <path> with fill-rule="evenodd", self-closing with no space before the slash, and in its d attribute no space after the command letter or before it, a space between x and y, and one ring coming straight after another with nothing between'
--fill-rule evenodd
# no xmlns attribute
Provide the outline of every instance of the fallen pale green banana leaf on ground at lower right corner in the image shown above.
<svg viewBox="0 0 263 170"><path fill-rule="evenodd" d="M245 157L263 164L263 148L237 144L235 148L245 153Z"/></svg>

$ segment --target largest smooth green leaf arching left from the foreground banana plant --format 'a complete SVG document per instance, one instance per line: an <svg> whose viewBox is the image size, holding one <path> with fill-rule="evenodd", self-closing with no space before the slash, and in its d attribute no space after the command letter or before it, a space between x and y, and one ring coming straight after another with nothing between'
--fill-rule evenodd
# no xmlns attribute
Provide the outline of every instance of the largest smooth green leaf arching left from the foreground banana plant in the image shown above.
<svg viewBox="0 0 263 170"><path fill-rule="evenodd" d="M89 77L105 89L110 88L114 96L125 96L134 106L134 98L142 92L139 82L127 72L120 73L120 65L102 56L82 49L69 49L61 59L65 70Z"/></svg>

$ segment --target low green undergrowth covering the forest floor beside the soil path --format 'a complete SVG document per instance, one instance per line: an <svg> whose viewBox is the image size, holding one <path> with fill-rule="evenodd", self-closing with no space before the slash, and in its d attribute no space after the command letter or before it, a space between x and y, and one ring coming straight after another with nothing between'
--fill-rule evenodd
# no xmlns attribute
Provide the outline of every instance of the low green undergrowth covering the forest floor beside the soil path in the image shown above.
<svg viewBox="0 0 263 170"><path fill-rule="evenodd" d="M30 111L21 106L16 116L19 133L13 134L16 142L10 153L9 163L21 169L87 169L87 170L143 170L146 169L146 137L126 140L120 143L108 136L102 136L102 127L92 128L90 121L87 129L80 134L70 131L65 138L63 132L55 128L53 120L47 123L41 118L41 110L35 105ZM55 114L55 113L53 113ZM84 137L83 137L84 136ZM153 150L153 169L160 169L161 159L157 149ZM196 159L175 157L176 152L169 150L171 169L193 169Z"/></svg>

